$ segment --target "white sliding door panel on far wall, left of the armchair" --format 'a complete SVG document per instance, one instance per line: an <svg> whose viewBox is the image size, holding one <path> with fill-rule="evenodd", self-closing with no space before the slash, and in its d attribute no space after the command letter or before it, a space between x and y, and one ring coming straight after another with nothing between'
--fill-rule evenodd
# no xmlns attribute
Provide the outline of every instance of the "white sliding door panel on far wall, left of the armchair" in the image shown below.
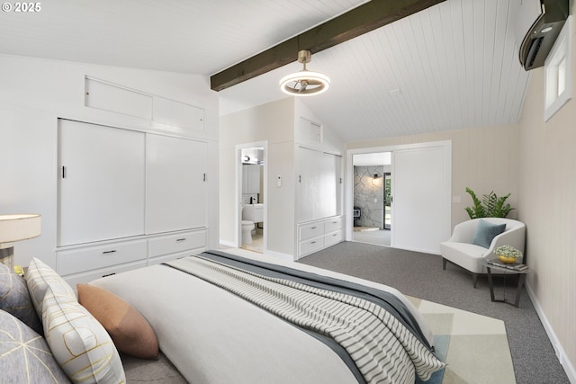
<svg viewBox="0 0 576 384"><path fill-rule="evenodd" d="M440 254L450 237L451 150L447 145L392 153L392 246Z"/></svg>

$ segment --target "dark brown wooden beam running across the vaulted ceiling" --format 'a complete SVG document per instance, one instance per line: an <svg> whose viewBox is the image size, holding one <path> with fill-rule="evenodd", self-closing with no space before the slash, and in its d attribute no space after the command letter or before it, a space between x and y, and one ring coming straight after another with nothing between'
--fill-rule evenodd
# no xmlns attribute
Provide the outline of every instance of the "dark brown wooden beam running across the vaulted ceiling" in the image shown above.
<svg viewBox="0 0 576 384"><path fill-rule="evenodd" d="M214 91L221 91L297 61L298 51L302 49L310 50L312 54L329 49L443 1L445 0L373 0L362 4L212 75L210 87Z"/></svg>

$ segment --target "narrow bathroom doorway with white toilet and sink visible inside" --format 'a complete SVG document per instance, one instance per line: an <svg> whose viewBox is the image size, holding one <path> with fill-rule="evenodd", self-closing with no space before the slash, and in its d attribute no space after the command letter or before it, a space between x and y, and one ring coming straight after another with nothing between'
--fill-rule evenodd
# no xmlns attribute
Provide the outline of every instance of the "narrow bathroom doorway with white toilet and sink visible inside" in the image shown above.
<svg viewBox="0 0 576 384"><path fill-rule="evenodd" d="M238 247L266 250L266 147L248 143L237 147Z"/></svg>

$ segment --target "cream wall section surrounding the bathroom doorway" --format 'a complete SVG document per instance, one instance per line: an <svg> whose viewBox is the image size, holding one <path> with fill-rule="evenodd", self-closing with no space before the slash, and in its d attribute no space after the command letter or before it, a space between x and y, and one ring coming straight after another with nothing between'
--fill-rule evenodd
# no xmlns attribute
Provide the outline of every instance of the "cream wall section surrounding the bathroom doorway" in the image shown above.
<svg viewBox="0 0 576 384"><path fill-rule="evenodd" d="M267 141L267 246L271 252L293 252L294 106L293 98L220 117L220 242L237 242L236 146ZM282 187L277 187L277 176Z"/></svg>

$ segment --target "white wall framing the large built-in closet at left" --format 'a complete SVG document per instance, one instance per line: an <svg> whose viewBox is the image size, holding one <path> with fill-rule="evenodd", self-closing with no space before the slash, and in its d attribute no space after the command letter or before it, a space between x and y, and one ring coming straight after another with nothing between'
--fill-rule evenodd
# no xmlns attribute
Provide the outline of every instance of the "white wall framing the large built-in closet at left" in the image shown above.
<svg viewBox="0 0 576 384"><path fill-rule="evenodd" d="M26 265L37 256L55 265L58 118L139 130L166 128L85 107L85 76L204 109L203 130L192 136L208 142L209 205L218 210L218 95L207 77L0 55L0 212L42 215L42 235L14 245L16 263ZM208 244L216 247L217 214L209 215L208 226L213 229Z"/></svg>

